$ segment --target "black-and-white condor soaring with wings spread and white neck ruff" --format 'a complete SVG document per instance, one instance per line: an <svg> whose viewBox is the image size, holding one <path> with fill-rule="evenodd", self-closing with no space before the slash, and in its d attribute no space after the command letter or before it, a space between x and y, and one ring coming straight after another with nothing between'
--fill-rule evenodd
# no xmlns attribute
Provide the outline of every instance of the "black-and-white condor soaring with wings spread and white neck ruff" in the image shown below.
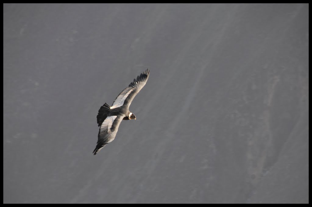
<svg viewBox="0 0 312 207"><path fill-rule="evenodd" d="M112 106L104 103L99 109L96 116L98 126L100 127L98 133L97 145L93 151L96 155L106 144L112 142L118 131L118 127L122 120L135 120L135 115L129 111L129 106L134 97L144 87L149 79L149 69L145 70L137 79L129 84L115 99Z"/></svg>

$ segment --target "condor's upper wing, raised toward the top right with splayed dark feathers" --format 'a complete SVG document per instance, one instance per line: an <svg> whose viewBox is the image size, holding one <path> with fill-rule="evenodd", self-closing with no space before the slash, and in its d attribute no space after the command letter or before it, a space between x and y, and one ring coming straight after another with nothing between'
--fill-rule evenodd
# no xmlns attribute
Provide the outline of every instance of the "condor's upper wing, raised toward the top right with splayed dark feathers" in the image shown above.
<svg viewBox="0 0 312 207"><path fill-rule="evenodd" d="M115 99L113 105L110 108L118 108L120 106L126 106L129 108L132 100L144 87L149 79L149 69L145 70L141 75L138 75L137 79L134 79Z"/></svg>

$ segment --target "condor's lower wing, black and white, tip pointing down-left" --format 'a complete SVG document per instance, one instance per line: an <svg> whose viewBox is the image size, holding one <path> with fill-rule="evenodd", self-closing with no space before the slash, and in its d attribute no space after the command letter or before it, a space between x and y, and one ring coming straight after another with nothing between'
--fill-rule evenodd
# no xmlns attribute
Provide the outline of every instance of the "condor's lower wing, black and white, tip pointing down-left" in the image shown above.
<svg viewBox="0 0 312 207"><path fill-rule="evenodd" d="M106 117L100 126L98 141L93 151L94 155L99 152L106 144L115 139L118 127L123 117L109 116Z"/></svg>

